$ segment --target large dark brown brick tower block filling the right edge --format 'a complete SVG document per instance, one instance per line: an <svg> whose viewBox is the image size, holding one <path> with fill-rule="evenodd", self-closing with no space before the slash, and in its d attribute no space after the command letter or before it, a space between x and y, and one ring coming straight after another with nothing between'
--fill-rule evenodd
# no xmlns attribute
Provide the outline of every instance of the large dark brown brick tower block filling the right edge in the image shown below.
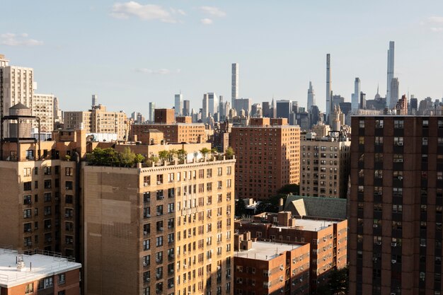
<svg viewBox="0 0 443 295"><path fill-rule="evenodd" d="M443 117L352 117L350 294L442 291Z"/></svg>

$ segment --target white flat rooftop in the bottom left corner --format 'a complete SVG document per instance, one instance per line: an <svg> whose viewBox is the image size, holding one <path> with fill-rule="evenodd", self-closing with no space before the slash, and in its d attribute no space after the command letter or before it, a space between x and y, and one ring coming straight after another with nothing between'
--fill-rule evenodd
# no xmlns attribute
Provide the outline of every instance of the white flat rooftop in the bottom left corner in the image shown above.
<svg viewBox="0 0 443 295"><path fill-rule="evenodd" d="M16 264L19 255L25 262L21 271L17 270ZM80 263L60 256L22 255L15 250L0 248L0 287L10 288L78 268L81 268Z"/></svg>

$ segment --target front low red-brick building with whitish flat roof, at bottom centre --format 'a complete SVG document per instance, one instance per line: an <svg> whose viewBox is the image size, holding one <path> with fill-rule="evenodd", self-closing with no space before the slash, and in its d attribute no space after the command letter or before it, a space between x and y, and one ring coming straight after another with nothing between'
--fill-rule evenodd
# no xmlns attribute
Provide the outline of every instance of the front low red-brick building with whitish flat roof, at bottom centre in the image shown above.
<svg viewBox="0 0 443 295"><path fill-rule="evenodd" d="M234 239L236 294L309 294L309 243L251 240L251 232Z"/></svg>

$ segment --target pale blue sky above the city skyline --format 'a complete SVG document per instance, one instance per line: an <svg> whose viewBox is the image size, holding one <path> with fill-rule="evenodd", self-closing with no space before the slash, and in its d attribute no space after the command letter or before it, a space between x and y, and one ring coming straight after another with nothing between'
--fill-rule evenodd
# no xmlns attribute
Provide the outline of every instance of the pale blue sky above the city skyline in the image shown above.
<svg viewBox="0 0 443 295"><path fill-rule="evenodd" d="M239 94L306 106L312 81L325 110L326 54L332 88L350 101L355 77L367 99L386 94L389 41L396 42L400 93L443 96L443 1L4 1L0 54L35 71L37 93L62 110L87 110L91 95L108 110L147 115L148 103L191 108L203 94Z"/></svg>

